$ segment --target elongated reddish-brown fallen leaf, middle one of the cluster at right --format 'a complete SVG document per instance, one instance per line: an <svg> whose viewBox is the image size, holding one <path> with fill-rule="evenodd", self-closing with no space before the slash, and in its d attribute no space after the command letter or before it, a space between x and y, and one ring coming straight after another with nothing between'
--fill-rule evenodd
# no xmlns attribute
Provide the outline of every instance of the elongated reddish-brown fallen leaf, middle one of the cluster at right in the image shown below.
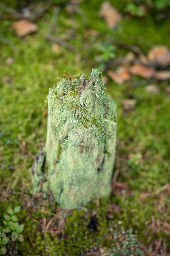
<svg viewBox="0 0 170 256"><path fill-rule="evenodd" d="M152 67L145 67L142 64L136 63L130 67L130 73L144 78L151 78L154 76L155 70Z"/></svg>

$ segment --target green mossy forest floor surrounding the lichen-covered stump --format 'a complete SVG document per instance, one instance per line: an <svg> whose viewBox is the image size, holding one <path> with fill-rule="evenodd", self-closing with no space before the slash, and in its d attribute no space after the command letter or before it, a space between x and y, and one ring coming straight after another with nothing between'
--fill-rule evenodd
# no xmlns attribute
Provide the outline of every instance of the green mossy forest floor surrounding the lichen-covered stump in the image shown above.
<svg viewBox="0 0 170 256"><path fill-rule="evenodd" d="M139 198L144 192L158 192L170 182L170 99L166 93L167 81L158 83L160 93L157 95L147 92L143 85L132 87L131 81L117 85L109 79L106 83L107 93L117 102L118 109L114 172L119 171L117 182L126 182L128 189L71 212L60 210L51 197L44 200L41 193L34 197L30 194L29 168L35 154L43 148L46 137L46 95L58 77L62 78L62 74L67 72L91 73L93 67L98 68L95 56L100 53L96 42L100 44L117 39L138 45L144 53L153 44L170 47L170 19L155 20L149 15L123 18L118 28L111 31L98 16L101 3L99 0L81 3L88 23L83 22L81 15L74 15L74 26L78 24L78 28L69 42L77 47L79 53L63 46L59 53L51 50L52 43L45 39L45 34L52 10L37 20L39 31L36 34L22 39L10 29L11 20L1 20L1 37L8 38L17 49L1 44L0 162L4 169L0 168L0 225L9 205L21 205L18 217L25 227L24 242L15 243L17 249L12 247L9 250L11 255L15 255L14 250L21 256L93 255L94 252L105 255L105 250L110 249L109 255L116 255L113 248L120 246L117 247L119 239L115 238L120 223L126 232L133 228L133 233L137 234L145 248L154 247L159 241L162 248L170 251L168 191ZM124 13L125 0L112 3ZM72 26L69 19L70 16L62 9L58 18L60 33ZM97 30L98 37L89 35L87 29ZM116 49L115 53L119 57L125 50ZM14 59L13 64L6 64L8 57ZM9 78L4 79L6 76ZM134 109L125 112L122 99L135 99ZM128 162L130 154L141 154L138 164L132 160ZM45 227L48 229L45 230ZM124 234L124 231L121 232ZM136 255L142 255L142 252Z"/></svg>

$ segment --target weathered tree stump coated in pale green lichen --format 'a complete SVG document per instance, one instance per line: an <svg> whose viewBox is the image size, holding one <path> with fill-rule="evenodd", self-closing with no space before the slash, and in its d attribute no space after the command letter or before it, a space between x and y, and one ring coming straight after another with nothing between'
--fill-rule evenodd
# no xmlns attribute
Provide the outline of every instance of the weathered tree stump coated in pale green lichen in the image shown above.
<svg viewBox="0 0 170 256"><path fill-rule="evenodd" d="M34 192L51 191L65 209L108 196L116 125L116 102L105 94L101 70L50 89L46 144L32 167Z"/></svg>

